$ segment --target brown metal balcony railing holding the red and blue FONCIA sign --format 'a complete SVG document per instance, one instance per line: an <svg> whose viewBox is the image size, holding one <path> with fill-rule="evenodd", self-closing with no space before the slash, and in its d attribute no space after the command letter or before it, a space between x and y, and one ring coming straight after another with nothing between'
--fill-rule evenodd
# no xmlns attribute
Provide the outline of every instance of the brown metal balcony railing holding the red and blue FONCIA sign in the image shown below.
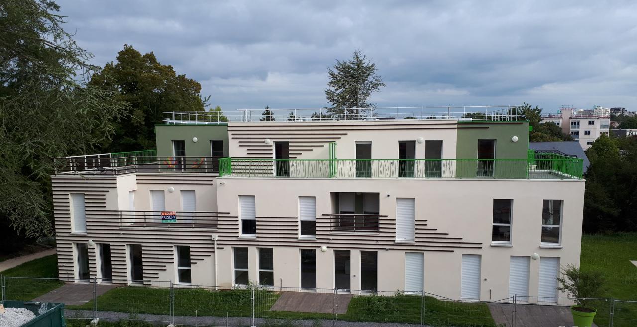
<svg viewBox="0 0 637 327"><path fill-rule="evenodd" d="M215 211L175 211L175 222L162 222L162 212L159 210L119 210L121 227L216 229L219 223L219 214L227 213Z"/></svg>

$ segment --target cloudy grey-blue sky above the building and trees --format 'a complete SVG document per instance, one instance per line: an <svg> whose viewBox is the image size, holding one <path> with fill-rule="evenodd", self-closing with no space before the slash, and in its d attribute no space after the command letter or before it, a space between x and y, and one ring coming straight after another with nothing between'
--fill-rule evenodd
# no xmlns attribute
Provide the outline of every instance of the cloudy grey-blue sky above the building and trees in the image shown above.
<svg viewBox="0 0 637 327"><path fill-rule="evenodd" d="M637 110L635 1L57 3L95 64L152 51L226 112L326 106L327 68L355 49L387 84L379 106Z"/></svg>

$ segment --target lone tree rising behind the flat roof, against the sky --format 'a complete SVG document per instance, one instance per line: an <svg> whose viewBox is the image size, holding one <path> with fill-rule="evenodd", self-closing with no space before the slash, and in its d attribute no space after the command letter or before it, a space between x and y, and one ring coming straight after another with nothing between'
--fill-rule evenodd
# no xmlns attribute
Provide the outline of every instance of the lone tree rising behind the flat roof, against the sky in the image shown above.
<svg viewBox="0 0 637 327"><path fill-rule="evenodd" d="M367 60L360 51L355 51L347 61L337 60L333 68L329 68L329 82L325 94L332 108L333 115L364 115L369 108L376 106L369 103L373 92L385 86L383 78L376 73L376 64ZM345 109L347 108L347 109Z"/></svg>

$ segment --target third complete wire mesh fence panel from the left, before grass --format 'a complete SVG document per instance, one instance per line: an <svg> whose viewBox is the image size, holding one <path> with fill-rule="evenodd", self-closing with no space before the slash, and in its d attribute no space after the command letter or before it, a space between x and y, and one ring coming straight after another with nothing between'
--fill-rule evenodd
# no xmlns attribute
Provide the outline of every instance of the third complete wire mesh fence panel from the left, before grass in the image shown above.
<svg viewBox="0 0 637 327"><path fill-rule="evenodd" d="M174 323L198 326L250 326L251 287L175 285Z"/></svg>

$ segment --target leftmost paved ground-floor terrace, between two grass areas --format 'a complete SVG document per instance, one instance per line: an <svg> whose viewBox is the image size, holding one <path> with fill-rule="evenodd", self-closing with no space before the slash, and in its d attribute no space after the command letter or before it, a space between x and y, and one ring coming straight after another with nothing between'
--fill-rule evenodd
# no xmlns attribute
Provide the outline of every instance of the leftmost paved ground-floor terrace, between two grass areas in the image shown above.
<svg viewBox="0 0 637 327"><path fill-rule="evenodd" d="M96 296L100 296L111 289L118 287L112 284L97 284ZM34 298L34 301L64 302L66 305L83 305L93 299L93 284L90 283L66 283L62 287L54 289L47 294Z"/></svg>

